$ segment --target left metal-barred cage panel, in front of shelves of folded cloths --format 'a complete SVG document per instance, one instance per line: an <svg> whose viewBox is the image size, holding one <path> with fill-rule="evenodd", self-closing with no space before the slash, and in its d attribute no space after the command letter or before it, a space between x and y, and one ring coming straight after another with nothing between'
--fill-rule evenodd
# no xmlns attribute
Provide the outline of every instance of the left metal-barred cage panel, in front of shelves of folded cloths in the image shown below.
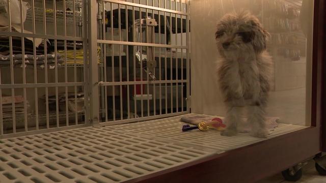
<svg viewBox="0 0 326 183"><path fill-rule="evenodd" d="M9 76L8 78L0 78L0 138L57 131L67 129L65 127L68 126L69 128L78 128L80 124L84 124L82 121L88 121L89 110L77 111L79 107L77 106L77 98L79 98L77 97L77 90L85 92L83 108L87 109L89 106L87 93L89 86L86 86L89 72L87 69L88 36L86 34L88 26L84 23L87 20L87 11L85 10L89 6L86 2L83 0L32 0L29 8L25 7L27 5L22 0L18 1L18 5L9 0L4 4L7 6L5 15L8 19L8 31L0 31L0 34L9 40L8 57L10 64L0 66L1 73L8 73ZM18 24L12 21L11 10L13 6L21 10L17 15L20 21ZM68 12L68 7L73 9L73 12ZM76 7L78 7L78 12ZM24 8L27 9L27 12L22 11ZM24 19L24 17L26 18ZM73 23L70 24L72 21ZM77 21L79 23L76 23ZM36 22L40 22L41 26L36 26ZM77 34L76 26L79 26L81 31L83 23L86 25L84 26L86 31ZM68 28L72 30L69 34ZM14 41L17 39L20 39L21 42L22 62L20 67L16 67L18 65L13 63L19 51L17 48L13 49L17 44ZM49 44L52 40L52 44ZM62 48L59 48L59 41L62 41ZM41 42L42 47L39 46L39 42ZM82 42L85 46L83 46L84 51L79 52L79 57L83 57L84 63L77 66L76 51L80 50L77 50L76 44L83 45ZM74 64L68 63L68 43L72 43L71 50L73 53L70 58ZM27 51L28 49L31 51ZM61 49L63 50L62 54L59 53ZM54 56L50 58L52 54ZM44 58L42 65L40 64L41 61L38 60L41 58L40 56ZM26 62L25 59L30 63ZM77 67L83 68L84 74L79 72L82 70ZM70 93L73 94L71 99L68 98ZM51 98L52 94L55 94L54 102ZM61 95L64 97L60 98ZM43 99L44 102L42 102ZM55 104L54 110L50 109L52 104ZM74 107L72 107L73 105ZM9 106L11 111L4 111L4 106L6 108ZM75 111L72 112L71 110ZM72 121L73 115L74 121ZM79 124L78 120L80 121Z"/></svg>

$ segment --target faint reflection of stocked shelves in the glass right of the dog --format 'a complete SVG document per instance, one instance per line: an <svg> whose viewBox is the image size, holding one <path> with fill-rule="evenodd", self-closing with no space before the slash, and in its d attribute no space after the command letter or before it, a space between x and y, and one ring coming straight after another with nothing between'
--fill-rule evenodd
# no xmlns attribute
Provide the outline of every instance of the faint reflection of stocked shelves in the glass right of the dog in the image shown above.
<svg viewBox="0 0 326 183"><path fill-rule="evenodd" d="M305 87L307 42L299 21L302 2L277 0L261 4L260 19L271 35L267 50L274 62L274 90Z"/></svg>

